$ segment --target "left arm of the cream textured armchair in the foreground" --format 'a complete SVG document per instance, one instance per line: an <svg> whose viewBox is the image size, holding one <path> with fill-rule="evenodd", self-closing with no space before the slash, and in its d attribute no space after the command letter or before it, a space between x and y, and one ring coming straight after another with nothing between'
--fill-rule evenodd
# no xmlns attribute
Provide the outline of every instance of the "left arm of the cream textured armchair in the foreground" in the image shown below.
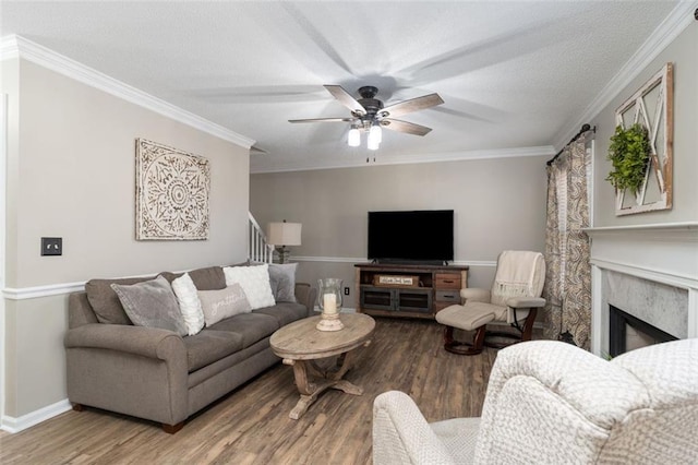
<svg viewBox="0 0 698 465"><path fill-rule="evenodd" d="M452 464L412 398L388 391L373 402L373 464Z"/></svg>

